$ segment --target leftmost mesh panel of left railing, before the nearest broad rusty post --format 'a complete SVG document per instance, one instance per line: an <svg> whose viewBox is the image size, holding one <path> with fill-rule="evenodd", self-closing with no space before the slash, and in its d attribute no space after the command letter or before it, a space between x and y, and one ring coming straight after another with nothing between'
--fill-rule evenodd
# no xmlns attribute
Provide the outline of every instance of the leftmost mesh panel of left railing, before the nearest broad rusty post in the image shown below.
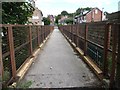
<svg viewBox="0 0 120 90"><path fill-rule="evenodd" d="M8 40L8 27L2 27L2 61L3 61L3 81L7 82L12 77L12 67L10 59L10 49Z"/></svg>

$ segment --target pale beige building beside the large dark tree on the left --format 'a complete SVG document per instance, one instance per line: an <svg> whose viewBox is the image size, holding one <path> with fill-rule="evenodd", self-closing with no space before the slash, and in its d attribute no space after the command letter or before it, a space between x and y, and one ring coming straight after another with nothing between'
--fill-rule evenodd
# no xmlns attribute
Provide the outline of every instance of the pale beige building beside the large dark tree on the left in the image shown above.
<svg viewBox="0 0 120 90"><path fill-rule="evenodd" d="M43 14L42 11L38 8L35 8L32 18L29 19L29 22L31 22L34 25L42 25L43 20Z"/></svg>

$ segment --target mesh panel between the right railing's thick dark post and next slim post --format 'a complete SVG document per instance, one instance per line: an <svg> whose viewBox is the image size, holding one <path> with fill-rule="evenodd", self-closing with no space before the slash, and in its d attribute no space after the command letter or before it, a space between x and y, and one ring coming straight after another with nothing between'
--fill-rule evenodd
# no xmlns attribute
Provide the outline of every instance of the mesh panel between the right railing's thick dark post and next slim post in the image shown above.
<svg viewBox="0 0 120 90"><path fill-rule="evenodd" d="M104 46L104 23L93 23L88 25L87 40L90 42L87 45L87 54L103 69L103 48ZM99 45L99 46L98 46Z"/></svg>

